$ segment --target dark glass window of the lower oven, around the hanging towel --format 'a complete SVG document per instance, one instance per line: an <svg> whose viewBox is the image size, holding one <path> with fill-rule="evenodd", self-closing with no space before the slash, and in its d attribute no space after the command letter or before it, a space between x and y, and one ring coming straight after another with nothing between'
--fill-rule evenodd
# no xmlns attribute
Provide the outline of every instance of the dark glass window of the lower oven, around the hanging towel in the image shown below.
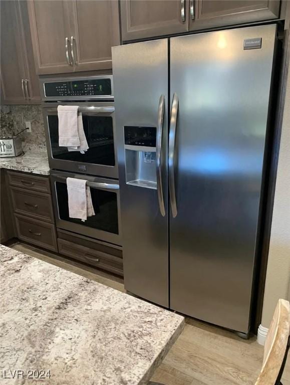
<svg viewBox="0 0 290 385"><path fill-rule="evenodd" d="M95 210L93 217L87 221L69 217L68 190L66 183L56 182L57 200L60 219L77 223L82 226L118 234L117 194L112 191L90 187L92 202Z"/></svg>

